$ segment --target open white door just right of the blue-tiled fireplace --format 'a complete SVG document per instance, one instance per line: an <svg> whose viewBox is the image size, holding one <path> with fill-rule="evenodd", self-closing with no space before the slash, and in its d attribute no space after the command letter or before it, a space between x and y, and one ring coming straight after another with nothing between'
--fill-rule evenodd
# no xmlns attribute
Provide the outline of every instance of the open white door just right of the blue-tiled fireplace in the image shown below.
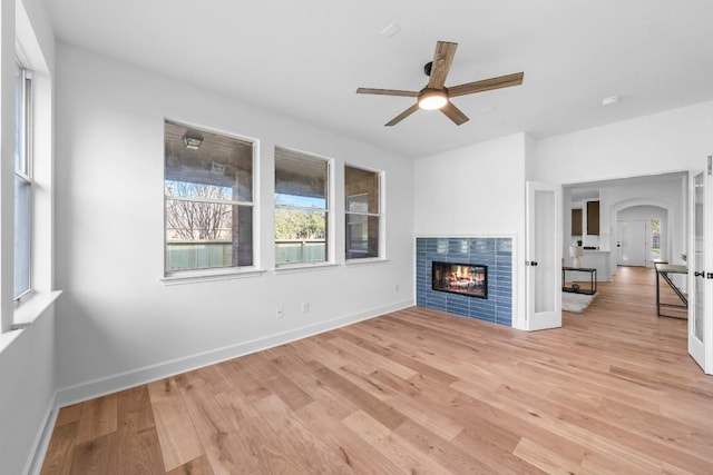
<svg viewBox="0 0 713 475"><path fill-rule="evenodd" d="M561 327L561 187L526 185L526 328Z"/></svg>

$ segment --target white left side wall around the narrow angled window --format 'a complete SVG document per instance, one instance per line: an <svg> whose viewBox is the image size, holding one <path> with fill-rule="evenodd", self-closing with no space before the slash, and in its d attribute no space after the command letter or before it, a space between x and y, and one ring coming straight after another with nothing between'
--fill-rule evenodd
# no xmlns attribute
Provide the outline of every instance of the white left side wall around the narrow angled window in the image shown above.
<svg viewBox="0 0 713 475"><path fill-rule="evenodd" d="M13 3L16 3L13 6ZM16 8L12 8L16 7ZM6 14L7 13L7 14ZM36 208L37 217L43 220L42 227L35 226L33 250L37 250L33 263L33 284L36 288L48 291L51 287L51 169L52 127L51 127L51 89L55 65L53 32L45 10L42 0L3 1L0 16L2 31L2 88L9 86L14 90L13 76L6 75L8 63L14 62L16 34L25 52L27 67L35 70L36 87L35 116L37 120L35 156L38 165ZM6 55L6 52L8 55ZM8 82L9 80L9 82ZM11 96L13 100L13 95ZM3 97L6 99L7 97ZM2 101L2 136L14 130L13 103ZM8 113L9 112L9 113ZM8 119L9 118L9 119ZM9 121L8 121L9 120ZM12 165L13 158L6 155L7 146L12 154L12 140L4 140L2 162L10 164L9 200L7 188L2 192L2 229L3 247L9 243L12 254L13 215L12 215ZM41 168L41 169L40 169ZM4 174L3 169L3 175ZM41 185L39 185L41 184ZM4 185L4 184L3 184ZM9 211L9 212L8 212ZM41 243L40 243L41 240ZM7 255L6 255L7 256ZM12 305L12 260L2 263L2 313L3 316L14 314L16 321L28 307L14 309ZM9 276L9 279L6 277ZM7 287L6 287L7 286ZM9 288L6 293L4 289ZM36 303L37 300L35 300ZM30 300L32 303L32 300ZM27 305L27 304L26 304ZM13 311L14 310L14 311ZM8 314L9 311L9 314ZM0 336L0 473L22 474L31 468L38 447L41 445L43 429L51 425L51 409L55 400L55 313L50 306L45 311L25 311L32 314L35 321L23 329L8 331ZM50 427L51 431L51 427ZM40 461L41 462L41 461Z"/></svg>

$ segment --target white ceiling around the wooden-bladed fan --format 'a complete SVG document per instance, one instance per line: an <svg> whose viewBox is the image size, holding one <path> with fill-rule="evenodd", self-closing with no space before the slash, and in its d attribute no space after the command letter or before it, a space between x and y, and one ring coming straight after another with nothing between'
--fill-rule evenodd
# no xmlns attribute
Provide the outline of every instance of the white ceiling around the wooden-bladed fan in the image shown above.
<svg viewBox="0 0 713 475"><path fill-rule="evenodd" d="M518 131L536 138L713 100L710 0L47 0L57 37L408 157ZM395 22L401 31L380 32ZM437 40L446 86L525 71L459 97L455 126L413 98ZM137 85L137 87L140 87ZM619 96L614 106L602 99Z"/></svg>

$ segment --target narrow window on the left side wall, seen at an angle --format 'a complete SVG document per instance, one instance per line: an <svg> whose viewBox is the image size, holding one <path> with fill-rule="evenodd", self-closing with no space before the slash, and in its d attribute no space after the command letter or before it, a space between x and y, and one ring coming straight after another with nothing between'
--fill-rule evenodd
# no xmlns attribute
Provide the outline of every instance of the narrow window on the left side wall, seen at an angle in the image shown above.
<svg viewBox="0 0 713 475"><path fill-rule="evenodd" d="M32 79L16 63L14 108L14 289L16 299L31 289Z"/></svg>

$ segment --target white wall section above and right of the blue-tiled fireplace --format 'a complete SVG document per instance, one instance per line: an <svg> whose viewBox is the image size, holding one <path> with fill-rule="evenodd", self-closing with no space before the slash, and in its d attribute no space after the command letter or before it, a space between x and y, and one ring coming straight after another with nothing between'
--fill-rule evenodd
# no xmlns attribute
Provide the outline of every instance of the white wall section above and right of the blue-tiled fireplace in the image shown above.
<svg viewBox="0 0 713 475"><path fill-rule="evenodd" d="M514 238L512 323L525 311L525 154L517 133L416 160L417 236Z"/></svg>

